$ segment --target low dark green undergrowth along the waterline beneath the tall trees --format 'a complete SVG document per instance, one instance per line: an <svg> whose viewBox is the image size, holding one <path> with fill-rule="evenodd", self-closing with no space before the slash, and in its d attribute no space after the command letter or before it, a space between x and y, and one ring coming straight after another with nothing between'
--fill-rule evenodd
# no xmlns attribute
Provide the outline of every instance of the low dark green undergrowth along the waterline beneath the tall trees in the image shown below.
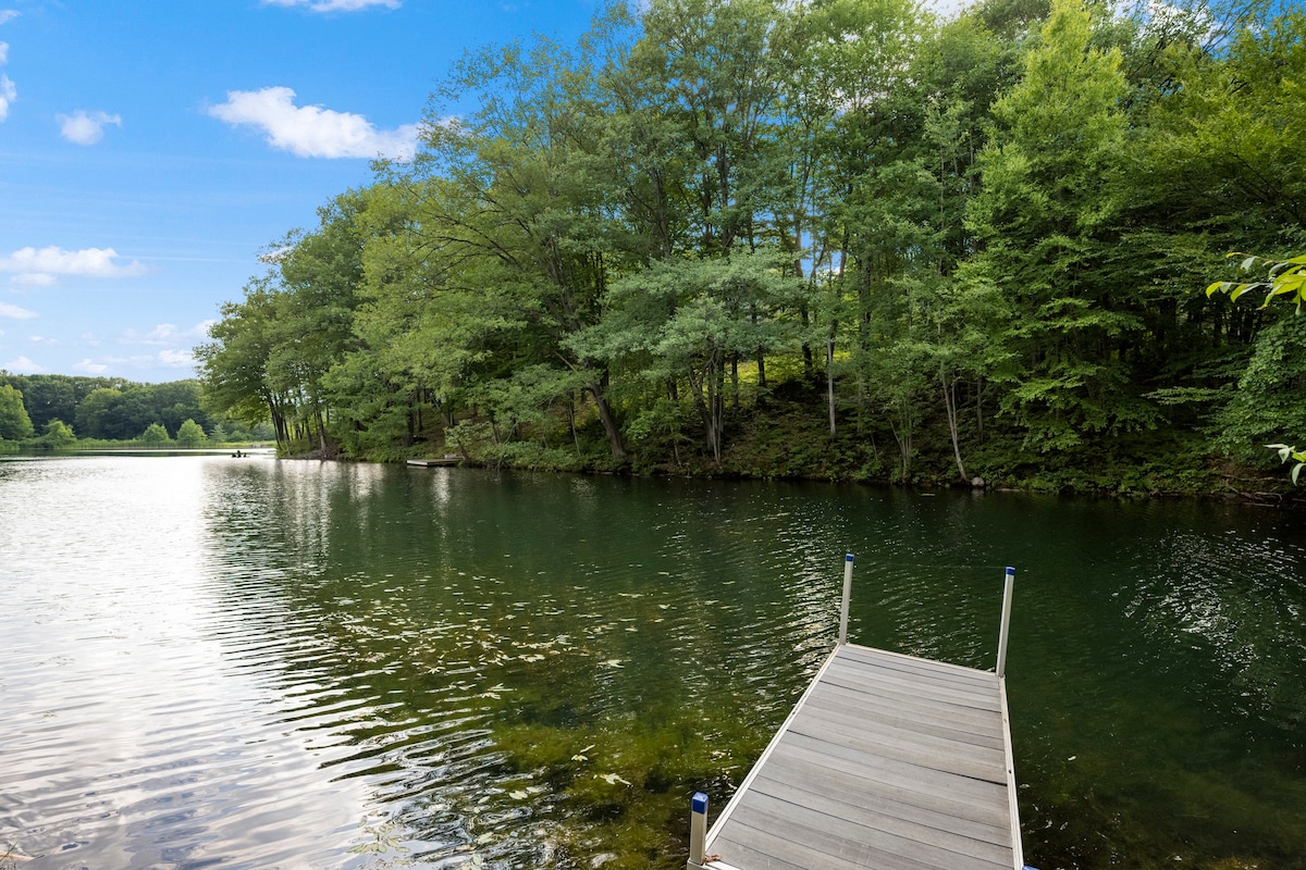
<svg viewBox="0 0 1306 870"><path fill-rule="evenodd" d="M909 449L875 415L855 408L837 415L831 434L823 397L799 381L780 385L756 400L730 404L725 421L720 463L707 445L679 430L632 440L626 459L614 459L592 412L559 412L503 433L486 419L468 417L448 429L421 432L407 446L390 442L370 447L346 436L328 454L316 443L299 442L283 455L372 462L456 455L468 466L556 472L1297 500L1297 489L1272 451L1249 453L1246 460L1237 462L1212 454L1209 441L1199 433L1174 429L1089 441L1075 451L1040 451L999 427L990 427L983 437L972 427L963 441L963 476L942 420L922 421Z"/></svg>

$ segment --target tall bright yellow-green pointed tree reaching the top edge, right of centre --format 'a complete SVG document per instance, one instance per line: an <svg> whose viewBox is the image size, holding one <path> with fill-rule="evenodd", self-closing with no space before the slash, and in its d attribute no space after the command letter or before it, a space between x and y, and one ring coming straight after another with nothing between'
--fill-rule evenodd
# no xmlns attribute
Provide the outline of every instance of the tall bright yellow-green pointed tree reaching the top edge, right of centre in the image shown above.
<svg viewBox="0 0 1306 870"><path fill-rule="evenodd" d="M1080 0L1054 0L1020 82L994 104L980 157L983 190L968 220L981 250L963 278L987 283L1013 320L995 335L1002 411L1041 451L1092 433L1155 424L1131 391L1130 350L1145 343L1128 286L1105 262L1117 240L1127 82L1118 51L1092 44Z"/></svg>

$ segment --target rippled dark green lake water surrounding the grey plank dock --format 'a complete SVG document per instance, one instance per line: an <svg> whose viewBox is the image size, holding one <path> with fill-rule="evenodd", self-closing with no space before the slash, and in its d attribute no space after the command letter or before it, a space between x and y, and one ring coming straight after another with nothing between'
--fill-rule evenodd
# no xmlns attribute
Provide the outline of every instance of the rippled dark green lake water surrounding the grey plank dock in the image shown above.
<svg viewBox="0 0 1306 870"><path fill-rule="evenodd" d="M1211 503L0 460L0 854L683 867L831 648L991 668L1025 857L1306 867L1306 527ZM0 858L0 867L9 867Z"/></svg>

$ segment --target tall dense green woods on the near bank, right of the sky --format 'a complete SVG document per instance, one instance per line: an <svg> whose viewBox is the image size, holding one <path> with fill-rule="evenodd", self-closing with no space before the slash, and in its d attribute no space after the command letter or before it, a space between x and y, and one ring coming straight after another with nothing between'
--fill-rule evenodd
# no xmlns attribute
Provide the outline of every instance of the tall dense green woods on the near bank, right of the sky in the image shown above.
<svg viewBox="0 0 1306 870"><path fill-rule="evenodd" d="M1303 29L609 3L576 44L469 51L411 160L270 244L196 348L204 400L283 454L1268 487L1306 321L1204 291L1306 249Z"/></svg>

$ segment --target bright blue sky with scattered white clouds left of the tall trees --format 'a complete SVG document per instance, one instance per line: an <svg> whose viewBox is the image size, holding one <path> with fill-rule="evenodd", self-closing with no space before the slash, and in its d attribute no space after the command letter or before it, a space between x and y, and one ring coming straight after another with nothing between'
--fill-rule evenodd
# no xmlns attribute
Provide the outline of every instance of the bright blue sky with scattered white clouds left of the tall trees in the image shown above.
<svg viewBox="0 0 1306 870"><path fill-rule="evenodd" d="M593 0L0 0L0 369L192 377L260 250L411 153L468 48Z"/></svg>

